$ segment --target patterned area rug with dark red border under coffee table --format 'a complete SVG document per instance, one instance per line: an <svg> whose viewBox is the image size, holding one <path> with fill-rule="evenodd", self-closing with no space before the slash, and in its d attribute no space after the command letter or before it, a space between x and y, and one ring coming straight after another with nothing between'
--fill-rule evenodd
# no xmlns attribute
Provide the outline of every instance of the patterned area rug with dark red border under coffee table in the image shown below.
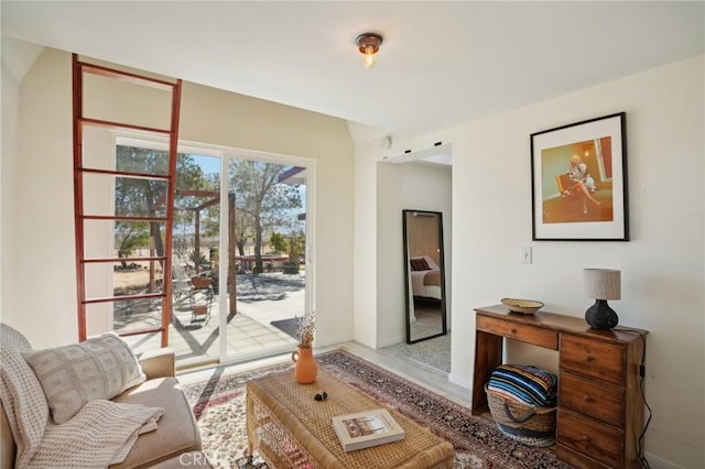
<svg viewBox="0 0 705 469"><path fill-rule="evenodd" d="M469 408L345 350L318 355L316 361L338 379L451 441L455 469L571 468L558 461L551 448L507 438L492 422L473 416ZM247 466L245 384L290 367L291 363L279 364L184 385L198 421L204 452L214 467L268 468L258 455L253 465Z"/></svg>

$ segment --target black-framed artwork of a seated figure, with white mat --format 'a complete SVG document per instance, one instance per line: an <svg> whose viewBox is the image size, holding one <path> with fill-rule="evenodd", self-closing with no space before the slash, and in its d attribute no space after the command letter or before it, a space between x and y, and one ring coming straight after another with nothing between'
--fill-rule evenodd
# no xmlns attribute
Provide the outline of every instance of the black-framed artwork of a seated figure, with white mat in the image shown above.
<svg viewBox="0 0 705 469"><path fill-rule="evenodd" d="M534 241L629 241L626 119L531 134Z"/></svg>

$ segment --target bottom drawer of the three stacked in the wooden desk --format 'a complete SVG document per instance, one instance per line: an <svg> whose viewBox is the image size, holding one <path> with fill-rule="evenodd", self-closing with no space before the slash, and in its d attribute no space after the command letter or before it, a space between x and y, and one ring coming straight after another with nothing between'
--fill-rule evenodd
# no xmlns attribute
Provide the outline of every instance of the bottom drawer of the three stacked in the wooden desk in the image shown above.
<svg viewBox="0 0 705 469"><path fill-rule="evenodd" d="M560 445L611 468L623 467L625 434L558 407L556 438Z"/></svg>

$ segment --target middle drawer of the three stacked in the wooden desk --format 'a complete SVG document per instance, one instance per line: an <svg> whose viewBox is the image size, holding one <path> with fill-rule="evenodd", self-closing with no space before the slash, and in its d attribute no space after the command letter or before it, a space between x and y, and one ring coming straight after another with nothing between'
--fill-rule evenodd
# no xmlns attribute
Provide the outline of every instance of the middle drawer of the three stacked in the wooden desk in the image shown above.
<svg viewBox="0 0 705 469"><path fill-rule="evenodd" d="M623 427L623 402L622 388L561 371L558 379L558 405L561 406Z"/></svg>

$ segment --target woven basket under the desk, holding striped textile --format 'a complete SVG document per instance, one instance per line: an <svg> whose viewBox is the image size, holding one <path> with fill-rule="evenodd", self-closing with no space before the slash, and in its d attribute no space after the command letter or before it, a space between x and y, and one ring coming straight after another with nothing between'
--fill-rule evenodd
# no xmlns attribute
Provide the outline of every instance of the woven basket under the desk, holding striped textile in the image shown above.
<svg viewBox="0 0 705 469"><path fill-rule="evenodd" d="M489 412L497 427L509 438L529 446L551 446L555 443L556 407L535 407L506 399L487 389Z"/></svg>

